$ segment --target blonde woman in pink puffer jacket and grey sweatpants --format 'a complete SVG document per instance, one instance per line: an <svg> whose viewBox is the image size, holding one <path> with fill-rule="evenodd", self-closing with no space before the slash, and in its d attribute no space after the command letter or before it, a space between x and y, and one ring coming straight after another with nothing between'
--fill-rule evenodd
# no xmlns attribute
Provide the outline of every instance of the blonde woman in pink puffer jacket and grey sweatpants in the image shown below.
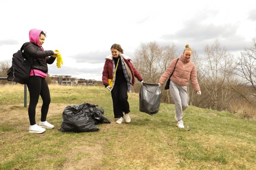
<svg viewBox="0 0 256 170"><path fill-rule="evenodd" d="M178 121L178 128L184 128L182 117L183 111L188 108L187 86L189 80L196 93L201 94L196 76L196 66L194 62L190 61L192 52L192 48L190 48L189 45L186 45L179 60L178 58L174 59L158 81L159 86L161 86L170 77L175 68L170 78L170 94L175 103L174 119Z"/></svg>

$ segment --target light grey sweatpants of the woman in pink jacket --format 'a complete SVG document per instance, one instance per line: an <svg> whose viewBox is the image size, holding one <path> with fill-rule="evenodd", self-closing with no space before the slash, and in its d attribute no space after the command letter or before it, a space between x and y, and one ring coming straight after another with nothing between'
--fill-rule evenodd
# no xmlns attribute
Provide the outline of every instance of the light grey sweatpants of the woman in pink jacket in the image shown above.
<svg viewBox="0 0 256 170"><path fill-rule="evenodd" d="M170 94L172 100L175 103L175 114L178 120L181 120L183 117L183 111L188 108L188 91L187 86L180 86L170 81Z"/></svg>

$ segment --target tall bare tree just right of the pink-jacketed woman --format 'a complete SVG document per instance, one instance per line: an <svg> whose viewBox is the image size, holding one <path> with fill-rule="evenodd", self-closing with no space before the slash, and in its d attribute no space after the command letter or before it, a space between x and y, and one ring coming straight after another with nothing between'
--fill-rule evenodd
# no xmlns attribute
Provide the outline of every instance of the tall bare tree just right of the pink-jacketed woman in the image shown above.
<svg viewBox="0 0 256 170"><path fill-rule="evenodd" d="M206 58L200 64L198 77L204 90L208 94L208 108L222 110L225 108L231 94L228 92L228 80L234 71L233 55L216 40L211 46L204 48Z"/></svg>

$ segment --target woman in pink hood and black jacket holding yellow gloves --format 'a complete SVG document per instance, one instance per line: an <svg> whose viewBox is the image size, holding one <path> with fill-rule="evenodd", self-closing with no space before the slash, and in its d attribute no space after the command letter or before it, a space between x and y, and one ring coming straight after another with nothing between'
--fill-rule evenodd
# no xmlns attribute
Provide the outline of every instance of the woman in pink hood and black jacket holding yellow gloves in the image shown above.
<svg viewBox="0 0 256 170"><path fill-rule="evenodd" d="M42 30L32 29L29 31L30 42L23 44L23 56L32 64L30 78L27 83L30 97L28 106L29 132L38 134L43 133L46 130L45 128L54 128L52 124L46 121L51 98L45 78L48 72L47 64L52 64L59 52L44 50L42 44L44 43L45 37L46 34ZM41 108L41 121L37 125L35 116L39 96L41 96L43 104Z"/></svg>

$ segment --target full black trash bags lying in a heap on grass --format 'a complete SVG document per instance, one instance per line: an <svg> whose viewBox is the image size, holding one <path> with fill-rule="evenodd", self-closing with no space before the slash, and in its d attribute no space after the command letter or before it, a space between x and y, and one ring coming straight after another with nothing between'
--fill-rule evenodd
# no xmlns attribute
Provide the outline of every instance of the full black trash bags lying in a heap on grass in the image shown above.
<svg viewBox="0 0 256 170"><path fill-rule="evenodd" d="M62 113L60 131L62 132L94 132L100 130L95 124L106 120L104 110L96 108L97 104L82 103L73 106L66 106Z"/></svg>

